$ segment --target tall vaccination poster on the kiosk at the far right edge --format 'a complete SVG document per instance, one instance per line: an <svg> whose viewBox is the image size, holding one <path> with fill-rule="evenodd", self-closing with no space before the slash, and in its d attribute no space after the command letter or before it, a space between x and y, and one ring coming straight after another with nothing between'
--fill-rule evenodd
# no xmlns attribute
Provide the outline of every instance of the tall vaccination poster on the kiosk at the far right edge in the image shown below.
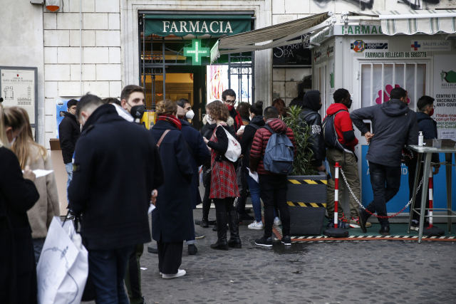
<svg viewBox="0 0 456 304"><path fill-rule="evenodd" d="M456 140L456 56L434 57L434 119L442 139Z"/></svg>

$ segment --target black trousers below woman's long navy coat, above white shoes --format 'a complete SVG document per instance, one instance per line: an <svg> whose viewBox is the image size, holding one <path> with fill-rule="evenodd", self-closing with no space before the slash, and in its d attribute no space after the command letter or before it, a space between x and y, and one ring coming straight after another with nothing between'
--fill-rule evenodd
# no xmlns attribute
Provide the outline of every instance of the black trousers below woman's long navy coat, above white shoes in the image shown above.
<svg viewBox="0 0 456 304"><path fill-rule="evenodd" d="M158 271L165 274L176 274L182 263L184 241L162 243L157 241Z"/></svg>

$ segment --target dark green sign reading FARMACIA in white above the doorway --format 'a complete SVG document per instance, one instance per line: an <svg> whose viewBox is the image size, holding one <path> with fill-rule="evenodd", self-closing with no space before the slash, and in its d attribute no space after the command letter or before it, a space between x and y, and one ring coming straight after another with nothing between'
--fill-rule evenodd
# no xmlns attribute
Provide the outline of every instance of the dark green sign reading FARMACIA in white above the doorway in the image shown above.
<svg viewBox="0 0 456 304"><path fill-rule="evenodd" d="M146 14L145 36L222 36L252 29L250 15Z"/></svg>

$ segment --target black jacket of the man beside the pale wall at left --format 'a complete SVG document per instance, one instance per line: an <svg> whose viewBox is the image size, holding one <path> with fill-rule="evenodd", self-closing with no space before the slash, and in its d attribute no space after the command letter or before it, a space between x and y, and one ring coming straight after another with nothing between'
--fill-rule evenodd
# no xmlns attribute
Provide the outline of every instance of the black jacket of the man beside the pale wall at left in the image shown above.
<svg viewBox="0 0 456 304"><path fill-rule="evenodd" d="M81 135L81 125L76 116L70 112L65 112L65 117L58 125L58 138L62 150L63 163L68 164L73 161L74 149L79 135Z"/></svg>

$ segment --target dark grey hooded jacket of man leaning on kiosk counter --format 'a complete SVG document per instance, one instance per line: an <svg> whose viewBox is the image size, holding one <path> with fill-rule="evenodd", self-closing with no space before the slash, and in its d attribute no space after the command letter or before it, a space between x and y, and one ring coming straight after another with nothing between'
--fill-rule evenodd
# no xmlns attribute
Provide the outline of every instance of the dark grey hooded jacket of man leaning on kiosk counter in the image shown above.
<svg viewBox="0 0 456 304"><path fill-rule="evenodd" d="M351 120L361 133L370 132L363 120L371 120L372 134L366 159L388 167L400 166L405 145L418 145L418 120L415 112L398 99L382 105L354 110Z"/></svg>

